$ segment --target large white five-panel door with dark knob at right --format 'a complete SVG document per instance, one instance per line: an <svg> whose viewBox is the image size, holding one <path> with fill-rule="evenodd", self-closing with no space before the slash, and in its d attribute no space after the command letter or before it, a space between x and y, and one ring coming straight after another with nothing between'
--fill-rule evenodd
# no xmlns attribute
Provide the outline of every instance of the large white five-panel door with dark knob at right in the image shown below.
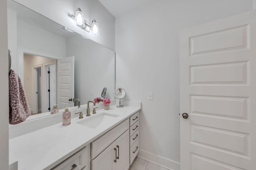
<svg viewBox="0 0 256 170"><path fill-rule="evenodd" d="M180 31L180 141L180 170L256 170L256 11Z"/></svg>

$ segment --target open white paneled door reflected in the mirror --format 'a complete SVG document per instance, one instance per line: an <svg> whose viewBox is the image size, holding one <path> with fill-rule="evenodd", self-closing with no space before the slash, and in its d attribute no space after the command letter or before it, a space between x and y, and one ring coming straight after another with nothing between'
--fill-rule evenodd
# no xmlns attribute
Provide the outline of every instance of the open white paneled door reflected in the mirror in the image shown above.
<svg viewBox="0 0 256 170"><path fill-rule="evenodd" d="M57 103L58 108L74 106L74 56L57 60Z"/></svg>

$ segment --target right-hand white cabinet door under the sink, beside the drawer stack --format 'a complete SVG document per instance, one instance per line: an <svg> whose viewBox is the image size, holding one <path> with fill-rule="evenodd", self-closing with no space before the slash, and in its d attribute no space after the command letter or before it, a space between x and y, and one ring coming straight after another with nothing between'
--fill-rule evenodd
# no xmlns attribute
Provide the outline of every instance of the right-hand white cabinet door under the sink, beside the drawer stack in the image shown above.
<svg viewBox="0 0 256 170"><path fill-rule="evenodd" d="M116 139L117 162L116 170L129 169L129 131L127 130L118 139Z"/></svg>

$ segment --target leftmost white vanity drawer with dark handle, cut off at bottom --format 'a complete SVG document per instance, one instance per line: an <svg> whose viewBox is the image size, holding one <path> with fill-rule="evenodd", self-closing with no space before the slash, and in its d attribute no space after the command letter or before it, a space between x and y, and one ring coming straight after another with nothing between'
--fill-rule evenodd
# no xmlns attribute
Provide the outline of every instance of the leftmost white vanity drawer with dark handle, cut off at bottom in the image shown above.
<svg viewBox="0 0 256 170"><path fill-rule="evenodd" d="M88 170L90 166L90 145L70 156L51 170Z"/></svg>

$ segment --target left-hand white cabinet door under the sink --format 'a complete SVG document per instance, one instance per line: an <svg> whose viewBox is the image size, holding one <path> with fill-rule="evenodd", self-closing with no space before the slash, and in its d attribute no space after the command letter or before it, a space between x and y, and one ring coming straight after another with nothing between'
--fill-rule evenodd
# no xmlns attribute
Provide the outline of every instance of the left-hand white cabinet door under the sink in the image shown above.
<svg viewBox="0 0 256 170"><path fill-rule="evenodd" d="M92 160L92 170L116 170L116 143L112 143L94 160Z"/></svg>

